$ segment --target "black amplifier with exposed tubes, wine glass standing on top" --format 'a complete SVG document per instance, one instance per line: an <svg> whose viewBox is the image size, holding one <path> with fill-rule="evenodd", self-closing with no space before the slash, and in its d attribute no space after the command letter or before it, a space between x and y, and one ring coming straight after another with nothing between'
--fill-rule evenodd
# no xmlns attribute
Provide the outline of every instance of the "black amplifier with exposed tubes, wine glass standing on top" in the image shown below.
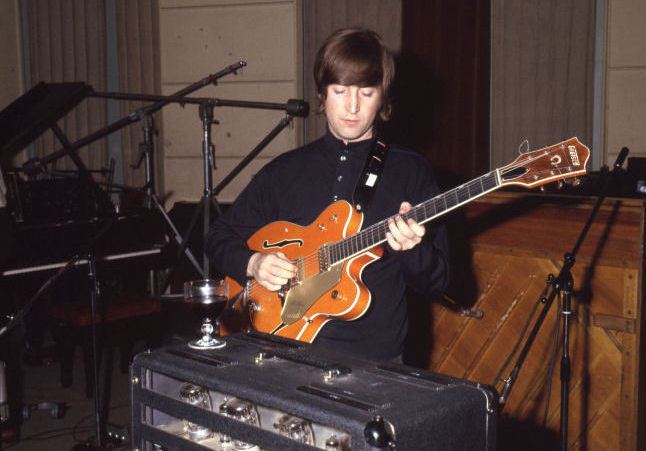
<svg viewBox="0 0 646 451"><path fill-rule="evenodd" d="M135 450L494 450L487 386L256 333L131 366Z"/></svg>

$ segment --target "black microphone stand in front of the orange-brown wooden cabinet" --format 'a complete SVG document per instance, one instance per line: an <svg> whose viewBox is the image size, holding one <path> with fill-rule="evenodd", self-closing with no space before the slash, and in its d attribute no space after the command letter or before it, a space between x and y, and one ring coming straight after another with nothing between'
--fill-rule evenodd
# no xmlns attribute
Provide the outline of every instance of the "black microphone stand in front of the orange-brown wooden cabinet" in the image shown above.
<svg viewBox="0 0 646 451"><path fill-rule="evenodd" d="M516 379L518 378L518 374L520 373L523 363L525 362L525 359L529 354L529 350L532 347L532 344L534 343L536 336L538 335L538 332L543 324L543 321L545 320L545 317L547 316L547 313L550 307L552 306L552 303L554 302L554 298L556 298L557 296L562 297L563 303L561 307L561 315L563 316L563 328L562 328L563 346L562 346L561 366L560 366L560 380L561 380L560 420L561 421L560 421L560 431L559 431L562 450L567 450L567 433L568 433L567 430L568 430L568 415L569 415L569 395L570 395L569 385L570 385L570 378L571 378L571 374L570 374L571 359L570 359L570 351L569 351L570 316L572 315L572 291L574 289L574 278L572 277L572 268L574 267L574 263L576 262L576 254L578 253L579 248L583 243L583 240L588 234L588 230L590 229L592 223L594 222L594 219L597 216L597 213L599 211L599 208L601 207L601 204L606 198L606 193L608 191L610 182L612 181L612 179L614 179L616 174L621 169L621 166L623 165L627 155L628 155L628 148L623 147L619 152L619 155L617 156L612 172L608 173L607 166L604 166L604 168L602 169L603 186L601 188L600 195L597 198L597 202L592 208L592 211L590 212L590 216L588 217L587 222L583 226L583 229L581 230L581 233L579 234L579 237L577 238L577 241L574 244L574 247L570 252L566 252L564 254L563 266L561 267L561 271L559 272L558 276L554 277L553 274L549 274L547 276L547 283L546 283L545 289L543 290L539 298L540 303L543 305L543 309L541 310L538 318L536 319L536 322L534 323L534 327L532 328L531 332L527 336L527 341L525 341L523 348L518 354L518 359L516 360L516 364L510 371L509 376L507 376L507 378L505 379L505 383L503 385L503 389L501 391L500 398L499 398L499 403L501 405L501 410L502 410L502 408L504 408L504 405L507 399L509 398L509 394L511 393L511 390L514 387L514 384L516 382Z"/></svg>

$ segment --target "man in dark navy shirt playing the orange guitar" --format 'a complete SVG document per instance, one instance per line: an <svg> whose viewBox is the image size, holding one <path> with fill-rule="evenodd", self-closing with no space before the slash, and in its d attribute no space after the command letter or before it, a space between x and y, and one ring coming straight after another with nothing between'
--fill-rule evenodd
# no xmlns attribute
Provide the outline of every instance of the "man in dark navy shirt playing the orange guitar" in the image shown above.
<svg viewBox="0 0 646 451"><path fill-rule="evenodd" d="M352 202L375 146L375 122L390 113L393 75L393 58L376 33L343 29L325 41L316 57L314 78L327 132L267 164L213 223L207 253L219 271L241 283L252 277L272 291L295 275L294 264L284 254L252 252L246 240L267 223L308 225L332 202ZM448 282L444 228L427 230L400 216L411 203L435 194L428 161L391 146L372 200L363 210L363 229L391 217L385 254L361 277L370 289L371 306L357 320L328 322L314 343L379 360L399 358L408 326L406 286L433 296Z"/></svg>

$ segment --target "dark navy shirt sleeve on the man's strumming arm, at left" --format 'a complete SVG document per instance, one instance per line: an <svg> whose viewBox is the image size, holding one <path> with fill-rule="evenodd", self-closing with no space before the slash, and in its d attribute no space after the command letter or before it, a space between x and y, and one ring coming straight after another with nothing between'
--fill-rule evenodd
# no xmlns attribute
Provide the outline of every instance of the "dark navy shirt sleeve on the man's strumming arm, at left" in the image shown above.
<svg viewBox="0 0 646 451"><path fill-rule="evenodd" d="M240 193L229 209L219 216L209 228L206 254L221 274L244 284L247 264L254 251L247 247L247 240L269 222L269 176L261 170Z"/></svg>

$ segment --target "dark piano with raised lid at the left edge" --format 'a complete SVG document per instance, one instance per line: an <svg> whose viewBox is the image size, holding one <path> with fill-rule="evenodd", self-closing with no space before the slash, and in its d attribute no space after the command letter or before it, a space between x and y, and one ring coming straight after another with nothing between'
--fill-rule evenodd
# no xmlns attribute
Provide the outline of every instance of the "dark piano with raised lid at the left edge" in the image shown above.
<svg viewBox="0 0 646 451"><path fill-rule="evenodd" d="M78 171L62 177L34 177L13 167L16 154L47 129L58 136L56 121L91 92L84 83L41 82L0 112L0 169L7 185L5 218L0 218L5 229L0 230L0 279L46 277L75 255L81 257L77 264L84 264L90 251L97 265L163 264L161 216L143 206L117 212L109 189L94 182L73 149L68 153ZM69 148L64 136L59 139Z"/></svg>

